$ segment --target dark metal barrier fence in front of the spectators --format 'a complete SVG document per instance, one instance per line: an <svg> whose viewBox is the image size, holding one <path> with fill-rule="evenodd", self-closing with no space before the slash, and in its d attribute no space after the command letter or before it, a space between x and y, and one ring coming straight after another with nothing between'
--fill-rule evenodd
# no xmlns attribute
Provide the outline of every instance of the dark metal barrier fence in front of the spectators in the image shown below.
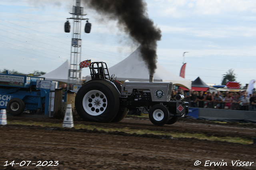
<svg viewBox="0 0 256 170"><path fill-rule="evenodd" d="M217 104L219 104L219 109L231 109L231 110L244 110L244 111L256 111L256 105L241 105L239 103L230 103L230 107L225 107L225 102L217 103L217 102L208 102L208 101L196 101L192 102L190 100L186 100L189 102L189 107L199 107L199 108L211 108L217 109Z"/></svg>

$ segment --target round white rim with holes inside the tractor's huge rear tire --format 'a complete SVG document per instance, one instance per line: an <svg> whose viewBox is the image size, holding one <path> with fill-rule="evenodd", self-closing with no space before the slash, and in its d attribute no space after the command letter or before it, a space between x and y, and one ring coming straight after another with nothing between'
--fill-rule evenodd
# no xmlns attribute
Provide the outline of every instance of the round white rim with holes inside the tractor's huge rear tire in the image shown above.
<svg viewBox="0 0 256 170"><path fill-rule="evenodd" d="M106 96L99 90L91 90L83 98L83 107L86 113L92 116L102 114L108 105Z"/></svg>

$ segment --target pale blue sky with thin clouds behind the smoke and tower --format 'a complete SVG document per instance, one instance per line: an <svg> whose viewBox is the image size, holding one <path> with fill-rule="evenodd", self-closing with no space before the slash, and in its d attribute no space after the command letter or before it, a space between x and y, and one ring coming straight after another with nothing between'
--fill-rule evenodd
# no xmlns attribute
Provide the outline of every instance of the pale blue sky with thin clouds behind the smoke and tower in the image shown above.
<svg viewBox="0 0 256 170"><path fill-rule="evenodd" d="M64 32L64 23L72 17L74 2L0 0L0 70L50 72L70 60L72 33ZM148 17L162 31L158 63L170 72L179 76L187 63L185 78L192 81L199 76L205 83L220 85L229 69L242 86L256 79L256 1L145 2ZM92 29L82 31L82 61L104 61L109 68L138 48L116 21L88 8L84 14ZM82 69L83 76L89 74L89 68Z"/></svg>

